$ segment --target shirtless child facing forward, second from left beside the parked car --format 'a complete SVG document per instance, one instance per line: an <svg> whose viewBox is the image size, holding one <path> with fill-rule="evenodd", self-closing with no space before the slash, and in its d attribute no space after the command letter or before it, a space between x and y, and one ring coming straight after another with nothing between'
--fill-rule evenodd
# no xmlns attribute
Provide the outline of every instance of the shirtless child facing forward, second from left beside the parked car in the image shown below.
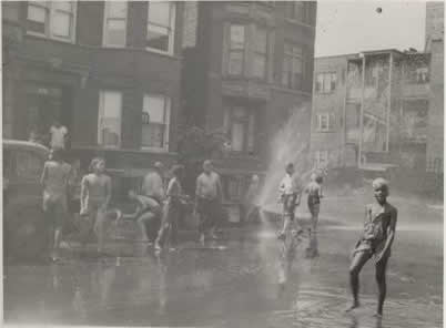
<svg viewBox="0 0 446 328"><path fill-rule="evenodd" d="M98 253L103 252L105 215L111 198L111 178L104 174L105 160L95 157L91 161L90 171L81 183L81 215L88 216L89 232L83 236L87 243L91 226L98 237Z"/></svg>

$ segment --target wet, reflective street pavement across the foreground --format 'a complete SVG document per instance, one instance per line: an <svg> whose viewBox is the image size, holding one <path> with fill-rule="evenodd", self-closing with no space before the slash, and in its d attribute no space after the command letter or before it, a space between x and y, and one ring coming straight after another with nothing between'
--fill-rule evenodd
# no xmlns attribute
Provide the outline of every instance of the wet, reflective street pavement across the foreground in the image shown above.
<svg viewBox="0 0 446 328"><path fill-rule="evenodd" d="M407 209L406 216L416 214ZM178 250L160 256L150 246L110 240L100 258L93 248L74 247L60 264L9 264L3 316L14 324L89 326L443 327L443 217L426 213L418 226L401 213L383 320L372 317L372 264L361 275L362 307L344 312L348 254L359 234L344 222L304 236L287 274L275 227L266 223L204 247L184 237ZM308 257L316 248L318 256Z"/></svg>

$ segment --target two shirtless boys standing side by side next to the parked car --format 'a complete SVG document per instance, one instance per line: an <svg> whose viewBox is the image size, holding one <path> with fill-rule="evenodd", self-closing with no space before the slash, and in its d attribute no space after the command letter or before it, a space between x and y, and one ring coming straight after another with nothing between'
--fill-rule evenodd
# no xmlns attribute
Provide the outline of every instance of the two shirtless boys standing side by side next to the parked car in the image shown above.
<svg viewBox="0 0 446 328"><path fill-rule="evenodd" d="M63 160L63 150L53 148L44 163L41 175L43 186L43 211L50 223L51 259L59 259L62 229L68 213L78 213L79 237L83 245L90 234L98 237L98 250L104 244L104 223L111 199L111 178L104 174L105 161L91 161L90 173L80 176L79 161L73 166Z"/></svg>

